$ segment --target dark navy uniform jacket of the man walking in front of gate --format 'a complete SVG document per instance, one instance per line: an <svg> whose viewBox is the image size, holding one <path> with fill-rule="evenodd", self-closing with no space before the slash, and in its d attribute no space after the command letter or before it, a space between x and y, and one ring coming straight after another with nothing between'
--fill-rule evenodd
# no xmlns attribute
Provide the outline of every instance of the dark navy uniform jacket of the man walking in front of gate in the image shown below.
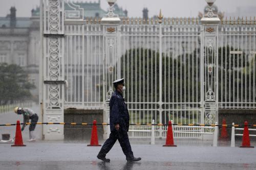
<svg viewBox="0 0 256 170"><path fill-rule="evenodd" d="M122 128L129 130L129 112L124 102L123 96L117 90L112 94L110 99L110 130L115 130L115 125L119 124Z"/></svg>

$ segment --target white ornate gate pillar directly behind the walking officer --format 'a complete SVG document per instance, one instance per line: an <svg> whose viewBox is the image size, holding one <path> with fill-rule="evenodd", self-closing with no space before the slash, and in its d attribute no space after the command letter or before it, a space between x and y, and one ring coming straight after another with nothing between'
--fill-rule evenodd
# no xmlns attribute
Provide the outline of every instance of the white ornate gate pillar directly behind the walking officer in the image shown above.
<svg viewBox="0 0 256 170"><path fill-rule="evenodd" d="M103 26L103 122L108 122L110 117L109 101L113 93L112 82L121 78L120 74L120 38L119 38L119 24L120 18L114 14L114 3L109 3L110 8L108 14L101 19ZM103 138L106 136L106 126L104 127Z"/></svg>

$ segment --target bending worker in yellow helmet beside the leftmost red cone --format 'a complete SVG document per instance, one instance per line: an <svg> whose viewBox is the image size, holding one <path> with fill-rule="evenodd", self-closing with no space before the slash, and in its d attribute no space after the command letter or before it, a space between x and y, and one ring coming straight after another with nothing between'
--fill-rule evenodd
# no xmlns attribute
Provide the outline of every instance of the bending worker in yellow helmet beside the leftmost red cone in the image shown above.
<svg viewBox="0 0 256 170"><path fill-rule="evenodd" d="M14 112L17 114L23 115L23 123L24 124L22 126L22 131L27 126L26 123L29 123L29 119L31 119L30 123L32 123L32 124L29 125L29 140L28 141L35 141L36 137L35 137L34 130L36 127L36 123L38 121L37 114L29 108L21 108L21 107L15 107Z"/></svg>

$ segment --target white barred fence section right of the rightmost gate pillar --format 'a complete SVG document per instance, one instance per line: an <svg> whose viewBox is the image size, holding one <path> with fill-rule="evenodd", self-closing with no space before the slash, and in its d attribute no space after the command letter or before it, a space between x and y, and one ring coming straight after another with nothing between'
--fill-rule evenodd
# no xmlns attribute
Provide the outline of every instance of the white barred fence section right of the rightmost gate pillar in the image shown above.
<svg viewBox="0 0 256 170"><path fill-rule="evenodd" d="M219 107L255 108L255 21L226 22L219 32Z"/></svg>

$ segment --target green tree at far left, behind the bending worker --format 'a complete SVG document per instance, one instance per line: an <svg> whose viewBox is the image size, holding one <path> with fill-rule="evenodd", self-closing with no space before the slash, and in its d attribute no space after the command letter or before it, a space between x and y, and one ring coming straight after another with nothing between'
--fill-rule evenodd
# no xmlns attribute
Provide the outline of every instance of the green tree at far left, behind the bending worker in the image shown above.
<svg viewBox="0 0 256 170"><path fill-rule="evenodd" d="M12 104L31 98L27 72L15 64L0 64L0 105Z"/></svg>

